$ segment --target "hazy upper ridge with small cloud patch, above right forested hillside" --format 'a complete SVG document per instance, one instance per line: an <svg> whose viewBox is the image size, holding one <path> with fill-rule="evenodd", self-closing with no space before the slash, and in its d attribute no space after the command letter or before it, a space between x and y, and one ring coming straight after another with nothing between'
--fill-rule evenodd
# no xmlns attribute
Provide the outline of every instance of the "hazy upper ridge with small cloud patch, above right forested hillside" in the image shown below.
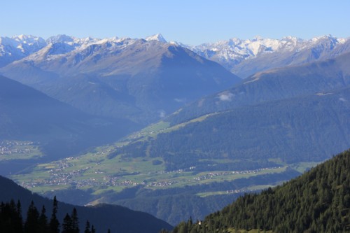
<svg viewBox="0 0 350 233"><path fill-rule="evenodd" d="M331 92L350 84L349 62L348 52L323 62L256 73L228 90L193 102L169 116L166 121L176 124L239 106Z"/></svg>

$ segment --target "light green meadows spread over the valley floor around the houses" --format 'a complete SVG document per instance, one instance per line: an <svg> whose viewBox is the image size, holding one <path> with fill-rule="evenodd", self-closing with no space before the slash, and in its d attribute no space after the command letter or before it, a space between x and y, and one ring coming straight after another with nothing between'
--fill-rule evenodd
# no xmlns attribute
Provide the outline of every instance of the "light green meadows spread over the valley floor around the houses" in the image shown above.
<svg viewBox="0 0 350 233"><path fill-rule="evenodd" d="M113 190L120 192L125 188L143 185L152 190L181 188L186 185L207 184L212 182L233 181L238 178L249 178L263 174L281 173L284 167L257 169L251 171L205 171L190 170L165 171L161 157L124 158L117 155L109 159L116 144L95 148L94 152L69 157L64 160L38 164L29 174L13 176L18 183L34 192L92 188L95 194ZM215 160L230 162L229 160ZM255 187L257 190L258 188ZM247 190L253 190L247 188ZM219 195L222 193L201 193L200 196Z"/></svg>

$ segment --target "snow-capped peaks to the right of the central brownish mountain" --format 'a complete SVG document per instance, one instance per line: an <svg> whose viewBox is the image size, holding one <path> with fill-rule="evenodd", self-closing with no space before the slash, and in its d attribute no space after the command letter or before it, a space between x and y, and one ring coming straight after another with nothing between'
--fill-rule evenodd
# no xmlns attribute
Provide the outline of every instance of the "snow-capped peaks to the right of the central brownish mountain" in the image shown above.
<svg viewBox="0 0 350 233"><path fill-rule="evenodd" d="M310 40L291 36L281 40L257 36L251 40L231 38L228 41L183 46L218 62L241 78L269 69L328 59L350 51L349 38L330 35Z"/></svg>

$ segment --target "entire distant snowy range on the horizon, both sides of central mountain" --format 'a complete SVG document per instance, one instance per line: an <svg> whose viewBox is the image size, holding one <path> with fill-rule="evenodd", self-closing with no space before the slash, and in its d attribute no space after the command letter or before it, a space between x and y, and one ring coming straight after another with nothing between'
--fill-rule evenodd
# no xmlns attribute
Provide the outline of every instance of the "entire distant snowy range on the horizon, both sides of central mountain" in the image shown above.
<svg viewBox="0 0 350 233"><path fill-rule="evenodd" d="M130 38L75 38L58 35L48 38L36 36L13 36L0 38L0 67L37 52L47 45L54 45L53 54L71 52L77 48L84 48L93 43L102 41L124 41L137 39ZM161 34L148 36L146 41L159 41L168 43ZM59 45L60 43L60 45ZM321 59L336 57L350 51L349 38L337 38L331 35L318 36L309 40L286 36L281 39L262 38L255 36L252 39L230 38L226 41L202 43L200 45L187 45L178 41L169 41L174 45L193 50L198 55L218 62L232 73L246 78L260 71L295 66Z"/></svg>

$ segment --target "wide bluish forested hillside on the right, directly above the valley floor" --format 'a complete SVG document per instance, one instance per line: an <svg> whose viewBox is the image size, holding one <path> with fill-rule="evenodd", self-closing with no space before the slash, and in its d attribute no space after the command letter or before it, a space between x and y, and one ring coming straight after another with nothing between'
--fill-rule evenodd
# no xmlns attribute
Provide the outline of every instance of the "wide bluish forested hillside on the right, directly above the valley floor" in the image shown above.
<svg viewBox="0 0 350 233"><path fill-rule="evenodd" d="M349 88L245 106L139 140L116 154L162 157L168 171L274 167L323 161L349 148ZM288 148L288 149L287 149ZM209 159L232 159L218 164ZM267 161L269 160L269 161Z"/></svg>

